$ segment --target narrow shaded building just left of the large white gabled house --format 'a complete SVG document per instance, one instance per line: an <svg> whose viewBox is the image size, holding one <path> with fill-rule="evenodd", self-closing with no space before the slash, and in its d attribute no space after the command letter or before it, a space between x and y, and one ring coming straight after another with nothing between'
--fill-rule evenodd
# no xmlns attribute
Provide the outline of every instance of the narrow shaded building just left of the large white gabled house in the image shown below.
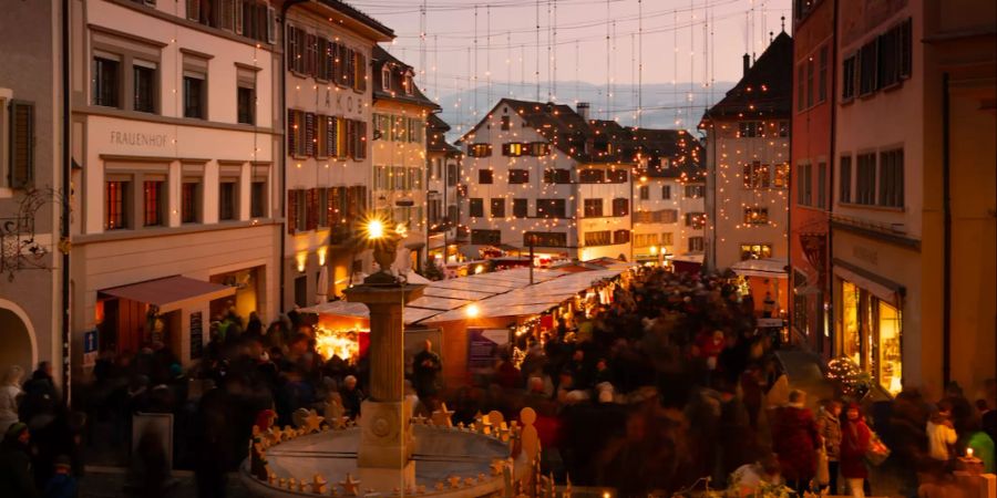
<svg viewBox="0 0 997 498"><path fill-rule="evenodd" d="M446 142L450 125L431 114L426 122L426 222L429 224L429 260L455 262L459 258L458 226L460 225L463 153Z"/></svg>

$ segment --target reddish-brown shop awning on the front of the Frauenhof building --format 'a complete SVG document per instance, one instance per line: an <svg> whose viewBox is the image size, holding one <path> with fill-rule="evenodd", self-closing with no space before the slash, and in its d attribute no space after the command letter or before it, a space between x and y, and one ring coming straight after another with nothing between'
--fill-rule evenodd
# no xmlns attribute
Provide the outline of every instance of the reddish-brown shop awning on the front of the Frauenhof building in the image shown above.
<svg viewBox="0 0 997 498"><path fill-rule="evenodd" d="M101 293L152 304L165 313L186 304L227 298L235 291L234 287L176 276L105 289Z"/></svg>

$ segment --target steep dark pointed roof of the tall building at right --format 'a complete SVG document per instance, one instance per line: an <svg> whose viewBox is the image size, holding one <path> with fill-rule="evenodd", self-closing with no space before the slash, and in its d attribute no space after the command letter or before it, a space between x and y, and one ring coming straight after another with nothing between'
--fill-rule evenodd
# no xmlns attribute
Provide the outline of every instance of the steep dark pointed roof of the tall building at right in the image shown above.
<svg viewBox="0 0 997 498"><path fill-rule="evenodd" d="M723 100L707 111L703 120L789 116L792 101L793 39L783 31Z"/></svg>

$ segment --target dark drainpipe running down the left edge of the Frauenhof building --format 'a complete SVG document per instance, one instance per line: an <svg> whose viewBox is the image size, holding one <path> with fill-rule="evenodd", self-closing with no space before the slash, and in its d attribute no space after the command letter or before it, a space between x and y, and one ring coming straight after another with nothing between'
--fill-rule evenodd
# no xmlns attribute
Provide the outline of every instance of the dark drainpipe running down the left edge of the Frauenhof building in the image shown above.
<svg viewBox="0 0 997 498"><path fill-rule="evenodd" d="M62 219L59 232L62 240L70 239L70 184L72 157L70 152L70 25L69 0L62 0ZM70 406L70 343L72 342L70 302L70 249L62 250L62 401Z"/></svg>

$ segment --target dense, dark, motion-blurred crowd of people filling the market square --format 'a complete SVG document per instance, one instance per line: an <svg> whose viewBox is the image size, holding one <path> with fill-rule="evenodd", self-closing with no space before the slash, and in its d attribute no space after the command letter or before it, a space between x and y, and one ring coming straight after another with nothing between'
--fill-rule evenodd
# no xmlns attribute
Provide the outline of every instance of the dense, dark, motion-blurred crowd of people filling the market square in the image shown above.
<svg viewBox="0 0 997 498"><path fill-rule="evenodd" d="M199 497L222 497L260 413L273 411L281 426L302 408L362 416L367 360L322 357L304 315L264 326L255 313L244 320L230 309L210 331L189 370L161 342L102 353L92 383L74 390L75 412L48 365L27 382L11 369L0 387L0 496L73 496L85 445L91 459L131 455L119 463L130 466L133 496L165 496L169 469L189 468ZM905 391L885 409L825 400L814 413L805 393L789 390L773 338L730 278L641 268L608 303L516 336L469 385L443 385L441 357L426 341L407 364L405 400L423 416L446 403L454 424L492 409L513 418L528 406L545 474L621 496L703 483L863 496L875 445L918 469L903 474L914 476L915 491L917 476L944 479L967 447L993 471L993 385L977 404L953 386L936 403ZM162 435L134 422L140 413L172 416L172 461Z"/></svg>

